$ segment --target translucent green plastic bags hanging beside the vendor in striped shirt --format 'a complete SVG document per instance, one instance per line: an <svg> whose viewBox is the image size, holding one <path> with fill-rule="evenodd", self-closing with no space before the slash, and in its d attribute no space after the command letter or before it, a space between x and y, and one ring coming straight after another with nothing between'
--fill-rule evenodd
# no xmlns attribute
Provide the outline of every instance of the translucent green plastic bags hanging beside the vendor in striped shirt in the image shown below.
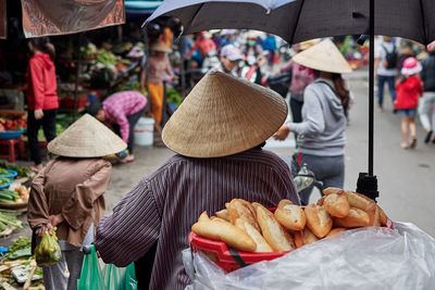
<svg viewBox="0 0 435 290"><path fill-rule="evenodd" d="M135 265L132 263L125 268L115 265L103 265L102 269L95 245L83 260L80 278L77 290L137 290Z"/></svg>

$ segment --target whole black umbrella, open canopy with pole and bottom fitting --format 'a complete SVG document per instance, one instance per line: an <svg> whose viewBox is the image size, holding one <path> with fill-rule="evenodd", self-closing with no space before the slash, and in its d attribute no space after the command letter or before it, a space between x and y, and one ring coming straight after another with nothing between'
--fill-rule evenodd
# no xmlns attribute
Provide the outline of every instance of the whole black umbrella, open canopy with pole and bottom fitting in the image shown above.
<svg viewBox="0 0 435 290"><path fill-rule="evenodd" d="M399 36L427 45L435 39L434 0L165 0L146 23L174 16L184 34L208 29L257 29L275 34L289 45L303 40L366 35L369 70L369 171L358 179L357 191L375 199L374 143L374 35Z"/></svg>

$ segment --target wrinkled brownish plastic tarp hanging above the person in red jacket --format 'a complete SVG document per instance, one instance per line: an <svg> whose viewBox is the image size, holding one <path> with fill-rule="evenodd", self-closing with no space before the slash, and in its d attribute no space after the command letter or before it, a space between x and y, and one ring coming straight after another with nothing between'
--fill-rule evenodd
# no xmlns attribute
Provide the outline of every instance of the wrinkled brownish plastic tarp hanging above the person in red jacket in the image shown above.
<svg viewBox="0 0 435 290"><path fill-rule="evenodd" d="M22 0L25 37L74 34L125 23L123 0Z"/></svg>

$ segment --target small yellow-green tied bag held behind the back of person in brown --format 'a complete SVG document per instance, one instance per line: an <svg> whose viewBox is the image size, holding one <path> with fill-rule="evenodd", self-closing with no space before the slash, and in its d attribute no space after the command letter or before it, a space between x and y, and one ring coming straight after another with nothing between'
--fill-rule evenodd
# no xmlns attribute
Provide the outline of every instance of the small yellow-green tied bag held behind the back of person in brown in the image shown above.
<svg viewBox="0 0 435 290"><path fill-rule="evenodd" d="M62 252L54 230L52 235L48 231L44 232L42 239L35 248L36 264L41 267L48 267L54 265L61 261L61 259Z"/></svg>

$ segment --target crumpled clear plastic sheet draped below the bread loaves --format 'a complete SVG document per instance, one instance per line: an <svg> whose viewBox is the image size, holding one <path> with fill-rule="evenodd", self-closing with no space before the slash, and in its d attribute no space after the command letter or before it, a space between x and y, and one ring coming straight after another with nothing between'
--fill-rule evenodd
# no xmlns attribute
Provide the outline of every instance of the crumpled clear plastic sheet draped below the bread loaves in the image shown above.
<svg viewBox="0 0 435 290"><path fill-rule="evenodd" d="M348 230L229 274L186 250L186 289L433 289L435 239L412 224L394 226Z"/></svg>

